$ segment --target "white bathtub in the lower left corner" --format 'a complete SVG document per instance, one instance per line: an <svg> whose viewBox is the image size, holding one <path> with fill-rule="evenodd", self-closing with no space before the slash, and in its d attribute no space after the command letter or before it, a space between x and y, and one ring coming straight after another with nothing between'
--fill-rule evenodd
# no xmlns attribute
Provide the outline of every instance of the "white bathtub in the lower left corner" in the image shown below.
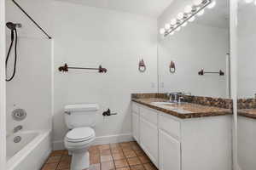
<svg viewBox="0 0 256 170"><path fill-rule="evenodd" d="M17 136L20 136L21 140L15 143L14 139ZM19 133L9 134L6 141L7 169L39 170L52 150L50 136L49 130L21 130Z"/></svg>

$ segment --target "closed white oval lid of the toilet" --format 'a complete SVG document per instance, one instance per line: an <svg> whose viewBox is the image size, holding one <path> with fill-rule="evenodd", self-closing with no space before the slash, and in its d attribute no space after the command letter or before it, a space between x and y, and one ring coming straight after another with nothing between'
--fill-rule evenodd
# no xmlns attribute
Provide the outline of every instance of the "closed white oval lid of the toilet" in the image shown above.
<svg viewBox="0 0 256 170"><path fill-rule="evenodd" d="M68 141L81 141L89 140L95 136L95 132L90 127L78 127L67 133Z"/></svg>

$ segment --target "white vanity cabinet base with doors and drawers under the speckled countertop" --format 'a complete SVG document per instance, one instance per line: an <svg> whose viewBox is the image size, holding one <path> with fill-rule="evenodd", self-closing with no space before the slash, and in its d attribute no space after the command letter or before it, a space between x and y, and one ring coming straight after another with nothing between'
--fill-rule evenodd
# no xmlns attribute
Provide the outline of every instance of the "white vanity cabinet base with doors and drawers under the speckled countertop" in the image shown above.
<svg viewBox="0 0 256 170"><path fill-rule="evenodd" d="M159 170L231 170L231 116L181 119L132 108L133 137Z"/></svg>

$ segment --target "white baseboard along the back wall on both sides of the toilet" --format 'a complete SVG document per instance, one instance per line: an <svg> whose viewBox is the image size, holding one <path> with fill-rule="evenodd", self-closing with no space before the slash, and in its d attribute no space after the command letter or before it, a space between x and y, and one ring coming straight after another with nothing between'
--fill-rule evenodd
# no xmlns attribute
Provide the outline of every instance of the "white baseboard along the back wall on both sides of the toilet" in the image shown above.
<svg viewBox="0 0 256 170"><path fill-rule="evenodd" d="M110 144L110 143L119 143L119 142L129 142L133 141L131 133L115 134L108 136L99 136L96 137L93 144ZM53 142L54 150L65 150L65 145L63 140L55 140Z"/></svg>

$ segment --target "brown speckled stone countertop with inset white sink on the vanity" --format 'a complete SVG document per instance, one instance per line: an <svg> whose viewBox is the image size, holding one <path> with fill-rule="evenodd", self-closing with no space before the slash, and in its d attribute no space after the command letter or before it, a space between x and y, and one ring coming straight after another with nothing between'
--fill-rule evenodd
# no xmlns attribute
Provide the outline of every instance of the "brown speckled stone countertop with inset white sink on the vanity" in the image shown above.
<svg viewBox="0 0 256 170"><path fill-rule="evenodd" d="M172 104L172 105L154 105L152 102L166 102L167 99L161 98L142 98L131 99L141 105L146 105L149 108L157 111L162 111L172 116L177 116L182 119L206 117L206 116L224 116L232 114L230 109L213 107L209 105L198 105L194 103ZM256 111L256 110L255 110ZM256 116L256 115L255 115Z"/></svg>

